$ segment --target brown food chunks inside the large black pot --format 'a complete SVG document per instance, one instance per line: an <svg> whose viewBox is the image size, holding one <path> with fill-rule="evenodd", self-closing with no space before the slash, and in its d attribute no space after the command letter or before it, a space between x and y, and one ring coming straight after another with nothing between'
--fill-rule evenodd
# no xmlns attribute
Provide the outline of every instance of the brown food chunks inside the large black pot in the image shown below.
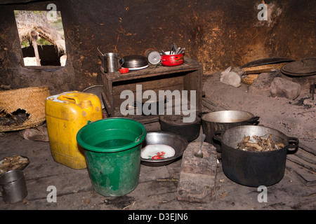
<svg viewBox="0 0 316 224"><path fill-rule="evenodd" d="M261 151L275 151L279 148L283 148L284 144L281 142L272 141L272 134L268 138L259 137L254 135L252 137L246 136L242 138L242 141L237 144L237 149L242 151L261 152Z"/></svg>

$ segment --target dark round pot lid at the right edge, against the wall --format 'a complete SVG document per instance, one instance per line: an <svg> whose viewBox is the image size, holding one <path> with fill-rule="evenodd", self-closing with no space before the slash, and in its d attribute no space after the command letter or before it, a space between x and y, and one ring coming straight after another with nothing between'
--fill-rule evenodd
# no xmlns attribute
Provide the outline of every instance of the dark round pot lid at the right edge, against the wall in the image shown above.
<svg viewBox="0 0 316 224"><path fill-rule="evenodd" d="M313 76L316 74L316 57L308 57L286 64L281 69L289 76Z"/></svg>

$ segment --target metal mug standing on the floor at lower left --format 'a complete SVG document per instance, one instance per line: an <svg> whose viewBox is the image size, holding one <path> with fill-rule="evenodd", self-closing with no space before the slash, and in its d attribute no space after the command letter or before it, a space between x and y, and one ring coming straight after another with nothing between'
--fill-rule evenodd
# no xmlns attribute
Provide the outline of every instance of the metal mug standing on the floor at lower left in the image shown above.
<svg viewBox="0 0 316 224"><path fill-rule="evenodd" d="M11 170L0 176L0 193L4 202L14 204L27 197L27 186L21 170Z"/></svg>

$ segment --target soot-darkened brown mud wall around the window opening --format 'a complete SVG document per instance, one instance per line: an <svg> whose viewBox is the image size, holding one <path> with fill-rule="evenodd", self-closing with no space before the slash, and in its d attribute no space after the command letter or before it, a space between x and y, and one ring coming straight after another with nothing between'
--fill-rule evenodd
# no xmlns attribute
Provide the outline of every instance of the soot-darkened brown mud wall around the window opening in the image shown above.
<svg viewBox="0 0 316 224"><path fill-rule="evenodd" d="M257 18L258 1L53 1L62 13L67 64L27 69L13 10L46 10L52 1L0 4L0 90L47 85L52 94L102 84L102 52L143 55L171 43L202 62L204 73L263 57L316 55L316 1L265 1L268 20Z"/></svg>

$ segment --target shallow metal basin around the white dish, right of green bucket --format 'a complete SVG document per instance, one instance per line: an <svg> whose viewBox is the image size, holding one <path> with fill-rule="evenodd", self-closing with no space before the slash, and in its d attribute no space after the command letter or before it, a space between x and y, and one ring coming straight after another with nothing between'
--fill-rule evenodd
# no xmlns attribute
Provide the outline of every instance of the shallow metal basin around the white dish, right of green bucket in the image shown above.
<svg viewBox="0 0 316 224"><path fill-rule="evenodd" d="M153 144L163 144L171 146L176 151L176 154L173 155L173 157L159 160L140 158L141 164L151 167L169 165L171 162L176 161L183 155L183 152L187 148L188 143L185 138L171 132L147 132L147 136L143 141L143 147Z"/></svg>

